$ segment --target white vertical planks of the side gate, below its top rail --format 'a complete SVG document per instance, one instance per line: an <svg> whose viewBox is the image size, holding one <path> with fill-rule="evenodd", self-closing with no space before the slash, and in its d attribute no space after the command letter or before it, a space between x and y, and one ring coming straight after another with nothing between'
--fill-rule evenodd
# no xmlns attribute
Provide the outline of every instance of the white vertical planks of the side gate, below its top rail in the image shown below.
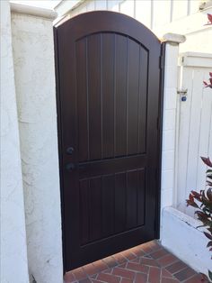
<svg viewBox="0 0 212 283"><path fill-rule="evenodd" d="M195 209L186 207L185 199L191 189L205 188L207 167L200 156L208 156L212 136L212 96L202 87L203 79L208 79L208 68L183 68L182 86L188 88L188 95L187 101L180 103L177 196L178 208L190 216L194 216Z"/></svg>

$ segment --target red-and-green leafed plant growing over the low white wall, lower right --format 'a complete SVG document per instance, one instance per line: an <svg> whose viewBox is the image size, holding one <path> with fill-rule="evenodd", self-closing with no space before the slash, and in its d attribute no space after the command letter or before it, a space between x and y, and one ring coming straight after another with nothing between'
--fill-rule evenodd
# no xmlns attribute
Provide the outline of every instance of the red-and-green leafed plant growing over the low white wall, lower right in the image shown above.
<svg viewBox="0 0 212 283"><path fill-rule="evenodd" d="M206 172L208 188L200 190L199 193L191 191L186 202L187 206L191 205L198 208L195 214L198 215L199 221L202 223L200 227L206 227L207 229L204 234L209 240L207 247L209 251L212 251L212 162L209 158L201 157L201 159L209 167ZM202 274L202 278L212 282L212 271L208 270L208 278L204 274Z"/></svg>

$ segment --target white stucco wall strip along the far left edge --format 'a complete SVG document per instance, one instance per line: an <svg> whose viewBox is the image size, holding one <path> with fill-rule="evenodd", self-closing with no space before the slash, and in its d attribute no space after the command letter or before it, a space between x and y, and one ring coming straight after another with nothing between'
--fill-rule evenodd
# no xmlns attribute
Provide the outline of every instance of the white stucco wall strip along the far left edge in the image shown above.
<svg viewBox="0 0 212 283"><path fill-rule="evenodd" d="M1 267L2 283L29 282L22 166L15 99L10 5L1 1Z"/></svg>

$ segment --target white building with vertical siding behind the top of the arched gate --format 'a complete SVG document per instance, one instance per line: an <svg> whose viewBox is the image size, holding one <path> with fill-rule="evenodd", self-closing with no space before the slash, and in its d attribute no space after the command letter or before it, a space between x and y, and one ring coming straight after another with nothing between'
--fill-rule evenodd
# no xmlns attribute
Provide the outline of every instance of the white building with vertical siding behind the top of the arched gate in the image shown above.
<svg viewBox="0 0 212 283"><path fill-rule="evenodd" d="M205 3L205 4L204 4ZM212 13L212 1L201 0L63 0L56 7L59 17L56 23L66 21L77 14L96 10L108 10L128 14L152 30L158 38L167 32L186 35L180 45L181 52L212 50L212 27L207 14ZM60 19L60 20L59 20Z"/></svg>

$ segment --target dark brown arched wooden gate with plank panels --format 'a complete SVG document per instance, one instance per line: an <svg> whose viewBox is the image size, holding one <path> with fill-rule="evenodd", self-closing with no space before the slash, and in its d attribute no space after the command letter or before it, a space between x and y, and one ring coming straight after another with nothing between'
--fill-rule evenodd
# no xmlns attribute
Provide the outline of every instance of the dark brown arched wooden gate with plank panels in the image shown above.
<svg viewBox="0 0 212 283"><path fill-rule="evenodd" d="M55 30L65 269L158 236L161 42L136 20Z"/></svg>

